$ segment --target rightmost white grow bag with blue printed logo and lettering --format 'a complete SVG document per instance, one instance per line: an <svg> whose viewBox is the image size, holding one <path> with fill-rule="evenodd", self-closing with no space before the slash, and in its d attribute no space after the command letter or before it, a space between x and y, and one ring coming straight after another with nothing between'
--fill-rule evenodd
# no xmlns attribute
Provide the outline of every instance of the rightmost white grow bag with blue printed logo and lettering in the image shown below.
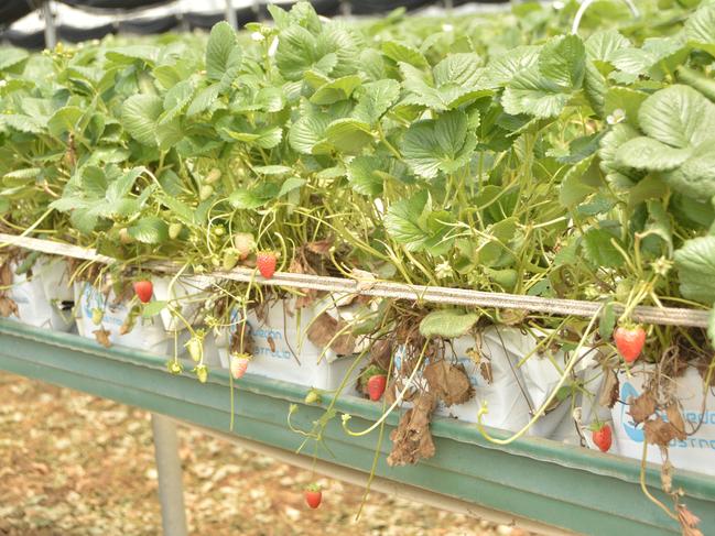
<svg viewBox="0 0 715 536"><path fill-rule="evenodd" d="M654 370L653 365L643 364L631 370L631 378L625 372L619 373L619 400L627 402L630 397L640 396L648 373ZM668 446L670 461L675 469L715 475L715 393L711 387L705 400L703 413L703 379L696 369L690 367L675 380L674 395L682 404L685 430L691 431L703 422L693 436L687 436L684 441L673 439ZM628 458L640 460L643 453L643 425L636 425L628 415L627 404L616 403L611 409L615 436L618 438L619 452ZM664 419L665 416L661 415ZM648 446L648 461L662 463L660 448L656 445Z"/></svg>

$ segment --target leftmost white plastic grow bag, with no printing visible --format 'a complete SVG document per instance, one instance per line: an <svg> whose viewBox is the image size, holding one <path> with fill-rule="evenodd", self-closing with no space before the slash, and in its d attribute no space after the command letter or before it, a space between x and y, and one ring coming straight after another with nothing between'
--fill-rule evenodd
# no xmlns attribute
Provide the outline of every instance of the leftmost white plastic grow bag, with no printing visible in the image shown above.
<svg viewBox="0 0 715 536"><path fill-rule="evenodd" d="M31 278L26 273L15 274L15 263L10 267L13 278L8 297L18 305L18 316L10 315L9 319L53 331L69 331L74 324L72 306L63 306L74 300L67 262L41 256L32 266Z"/></svg>

